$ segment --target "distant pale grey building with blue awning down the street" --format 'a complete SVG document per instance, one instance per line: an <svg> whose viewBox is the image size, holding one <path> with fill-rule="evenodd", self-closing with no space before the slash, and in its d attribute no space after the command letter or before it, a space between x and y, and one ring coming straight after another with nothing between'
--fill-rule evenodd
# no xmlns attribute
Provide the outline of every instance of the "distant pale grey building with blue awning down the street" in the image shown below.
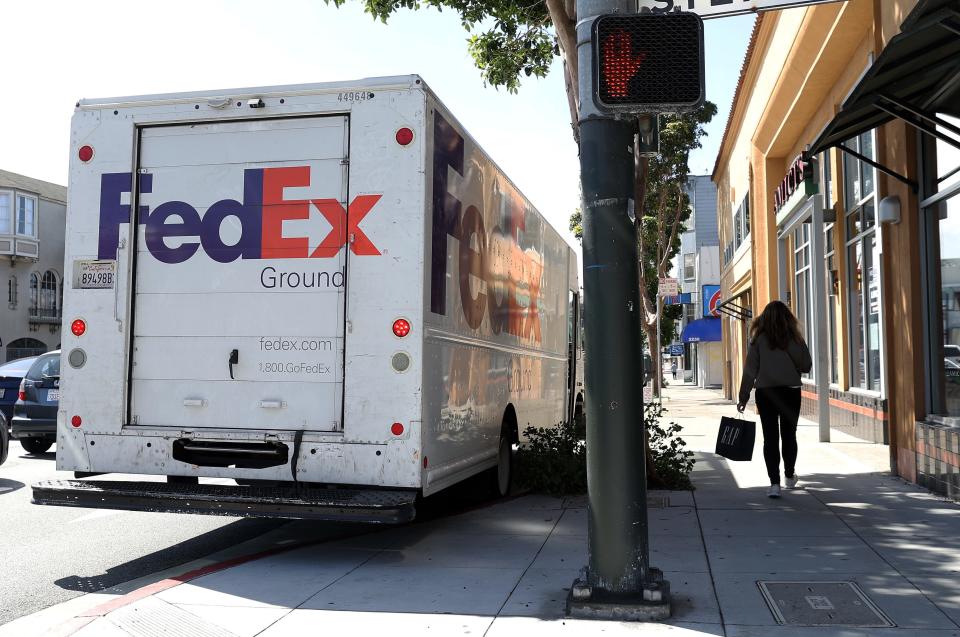
<svg viewBox="0 0 960 637"><path fill-rule="evenodd" d="M720 284L720 241L717 234L717 188L709 175L694 175L687 182L687 194L692 209L687 220L687 231L680 235L680 252L674 272L680 279L683 315L680 334L688 325L704 318L713 318L709 311L710 298ZM696 327L702 327L698 324ZM689 331L688 339L689 339ZM698 330L698 340L684 346L683 372L686 382L700 387L719 387L722 382L723 360L719 340L706 340L708 330Z"/></svg>

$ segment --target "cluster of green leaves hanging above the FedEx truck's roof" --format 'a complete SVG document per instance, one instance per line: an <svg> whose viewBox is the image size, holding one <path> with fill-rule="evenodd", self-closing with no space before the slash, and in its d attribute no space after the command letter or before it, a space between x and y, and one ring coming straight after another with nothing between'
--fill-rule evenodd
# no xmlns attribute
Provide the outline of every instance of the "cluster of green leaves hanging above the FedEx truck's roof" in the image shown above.
<svg viewBox="0 0 960 637"><path fill-rule="evenodd" d="M340 7L347 0L324 0ZM545 77L558 55L544 0L360 0L364 11L386 23L401 9L451 9L470 34L467 50L485 83L516 93L524 77ZM478 30L478 26L481 28Z"/></svg>

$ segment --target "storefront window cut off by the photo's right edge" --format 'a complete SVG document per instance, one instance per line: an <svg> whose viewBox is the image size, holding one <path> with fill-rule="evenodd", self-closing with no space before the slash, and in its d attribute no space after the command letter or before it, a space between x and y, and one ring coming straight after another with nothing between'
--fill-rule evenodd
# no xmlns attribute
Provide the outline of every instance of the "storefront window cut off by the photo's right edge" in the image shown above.
<svg viewBox="0 0 960 637"><path fill-rule="evenodd" d="M940 117L960 125L957 118ZM932 143L929 137L925 143ZM936 224L939 244L934 255L939 272L931 279L939 279L940 317L930 333L936 346L942 343L942 358L937 354L930 365L933 413L960 416L960 150L937 140L934 154L936 170L931 172L936 179L928 180L928 188L933 191L929 199L935 201L924 209L927 219Z"/></svg>

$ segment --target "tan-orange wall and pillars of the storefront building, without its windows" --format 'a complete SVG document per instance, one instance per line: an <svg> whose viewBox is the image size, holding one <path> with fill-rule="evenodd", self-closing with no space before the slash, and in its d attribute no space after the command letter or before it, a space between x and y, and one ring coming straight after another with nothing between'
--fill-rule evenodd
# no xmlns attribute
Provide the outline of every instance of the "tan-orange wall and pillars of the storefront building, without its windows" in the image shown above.
<svg viewBox="0 0 960 637"><path fill-rule="evenodd" d="M732 236L732 214L750 192L752 232L721 272L724 298L749 291L759 313L779 296L773 192L787 167L829 124L917 0L850 0L764 14L757 26L714 171L718 188L721 249ZM916 179L913 129L899 121L877 131L881 164ZM838 389L848 389L847 282L843 220L842 157L828 154L837 215L836 341ZM923 414L922 317L918 202L911 189L882 173L877 201L900 198L902 221L878 229L881 241L883 321L891 453L900 475L916 480L915 422ZM747 256L749 255L749 258ZM896 326L896 327L894 327ZM905 327L906 326L906 327ZM724 319L724 391L734 398L745 356L743 326Z"/></svg>

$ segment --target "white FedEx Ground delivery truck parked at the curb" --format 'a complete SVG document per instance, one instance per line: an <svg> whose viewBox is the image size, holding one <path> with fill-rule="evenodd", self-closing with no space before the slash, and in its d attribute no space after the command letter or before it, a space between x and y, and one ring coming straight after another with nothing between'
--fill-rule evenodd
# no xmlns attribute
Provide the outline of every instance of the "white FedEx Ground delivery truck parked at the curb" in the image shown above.
<svg viewBox="0 0 960 637"><path fill-rule="evenodd" d="M83 100L71 154L36 503L403 521L582 404L573 250L417 76Z"/></svg>

